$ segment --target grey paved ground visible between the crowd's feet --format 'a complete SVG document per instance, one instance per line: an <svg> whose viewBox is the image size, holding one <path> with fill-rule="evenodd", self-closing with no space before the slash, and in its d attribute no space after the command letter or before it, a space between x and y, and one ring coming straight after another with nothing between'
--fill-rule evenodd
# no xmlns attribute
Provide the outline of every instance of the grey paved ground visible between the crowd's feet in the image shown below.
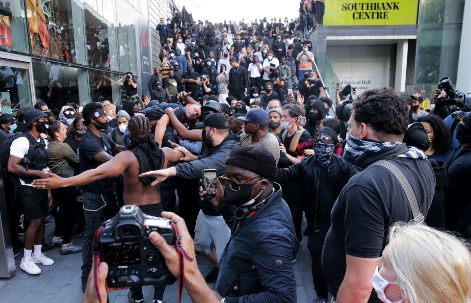
<svg viewBox="0 0 471 303"><path fill-rule="evenodd" d="M51 225L46 227L46 240L50 241L54 230L53 218L50 217ZM303 225L303 230L305 223ZM20 237L22 239L22 237ZM22 239L23 240L23 239ZM81 245L82 237L74 238L74 242ZM297 283L297 301L302 303L312 302L315 297L313 279L311 276L311 258L306 248L307 237L301 243L298 262L295 263L294 272ZM46 253L54 260L52 266L39 265L42 273L37 276L28 275L20 269L21 255L15 258L17 273L9 279L0 279L0 302L34 302L55 303L67 302L78 303L82 300L81 290L81 253L61 255L58 248ZM197 258L200 271L203 275L208 274L212 266L203 257ZM215 289L215 283L211 288ZM163 301L166 303L178 302L177 283L167 286ZM152 302L154 288L145 286L143 288L145 302ZM109 293L109 300L113 303L127 303L128 290ZM188 294L183 293L182 302L191 302Z"/></svg>

